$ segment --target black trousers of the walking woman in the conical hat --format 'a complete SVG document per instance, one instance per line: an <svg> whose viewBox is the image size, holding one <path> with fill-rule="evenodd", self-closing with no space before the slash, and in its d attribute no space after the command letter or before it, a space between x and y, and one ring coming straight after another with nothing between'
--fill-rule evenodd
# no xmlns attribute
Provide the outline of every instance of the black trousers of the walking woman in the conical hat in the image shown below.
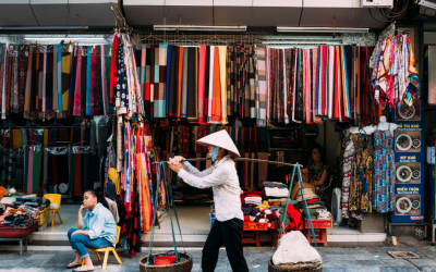
<svg viewBox="0 0 436 272"><path fill-rule="evenodd" d="M249 272L242 248L243 221L231 219L225 222L215 220L203 248L203 272L214 272L218 262L219 248L225 245L232 271Z"/></svg>

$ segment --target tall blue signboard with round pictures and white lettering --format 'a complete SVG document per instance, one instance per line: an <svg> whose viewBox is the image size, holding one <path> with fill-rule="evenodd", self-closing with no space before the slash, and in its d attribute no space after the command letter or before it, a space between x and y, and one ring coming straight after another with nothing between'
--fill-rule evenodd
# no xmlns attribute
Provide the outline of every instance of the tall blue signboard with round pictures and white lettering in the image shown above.
<svg viewBox="0 0 436 272"><path fill-rule="evenodd" d="M391 110L395 132L396 184L391 223L424 221L424 106L413 104Z"/></svg>

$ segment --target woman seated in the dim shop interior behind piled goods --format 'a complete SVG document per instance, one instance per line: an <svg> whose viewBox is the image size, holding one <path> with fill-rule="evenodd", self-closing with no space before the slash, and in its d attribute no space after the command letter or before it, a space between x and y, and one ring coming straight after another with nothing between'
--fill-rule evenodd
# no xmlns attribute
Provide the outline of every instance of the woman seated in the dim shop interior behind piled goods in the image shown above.
<svg viewBox="0 0 436 272"><path fill-rule="evenodd" d="M313 163L302 169L301 174L303 187L311 188L316 194L316 191L324 189L324 183L328 178L328 166L322 161L320 149L318 147L312 148L311 157ZM292 189L291 199L295 200L299 190L300 185L296 183Z"/></svg>

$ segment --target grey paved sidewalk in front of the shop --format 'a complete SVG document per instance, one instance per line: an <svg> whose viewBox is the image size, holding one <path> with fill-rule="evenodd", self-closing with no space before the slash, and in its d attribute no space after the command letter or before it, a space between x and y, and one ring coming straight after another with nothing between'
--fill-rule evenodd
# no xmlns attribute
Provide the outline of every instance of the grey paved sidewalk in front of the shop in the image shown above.
<svg viewBox="0 0 436 272"><path fill-rule="evenodd" d="M201 271L201 250L186 250L194 258L193 272ZM378 247L378 248L335 248L319 247L318 249L324 261L323 272L436 272L436 247ZM397 260L391 258L388 251L413 251L421 259ZM156 251L161 252L161 251ZM268 271L268 259L272 256L272 248L244 248L244 255L249 263L250 271ZM116 259L110 256L107 272L114 271L140 271L138 261L146 256L146 252L134 257L126 251L119 251L123 264L118 264ZM94 255L95 271L101 271L101 261L97 262ZM74 260L74 256L69 251L28 251L23 256L17 252L0 252L0 272L43 272L43 271L71 271L65 270L65 264ZM230 263L225 250L220 251L218 264L215 271L231 271Z"/></svg>

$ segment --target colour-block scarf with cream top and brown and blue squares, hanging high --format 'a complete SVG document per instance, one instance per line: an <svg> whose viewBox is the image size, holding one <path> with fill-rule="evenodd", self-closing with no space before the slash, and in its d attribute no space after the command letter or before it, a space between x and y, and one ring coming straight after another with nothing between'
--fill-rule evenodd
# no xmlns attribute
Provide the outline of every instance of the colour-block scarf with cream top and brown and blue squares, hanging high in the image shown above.
<svg viewBox="0 0 436 272"><path fill-rule="evenodd" d="M155 119L164 119L167 116L167 45L159 45L159 48L155 50Z"/></svg>

